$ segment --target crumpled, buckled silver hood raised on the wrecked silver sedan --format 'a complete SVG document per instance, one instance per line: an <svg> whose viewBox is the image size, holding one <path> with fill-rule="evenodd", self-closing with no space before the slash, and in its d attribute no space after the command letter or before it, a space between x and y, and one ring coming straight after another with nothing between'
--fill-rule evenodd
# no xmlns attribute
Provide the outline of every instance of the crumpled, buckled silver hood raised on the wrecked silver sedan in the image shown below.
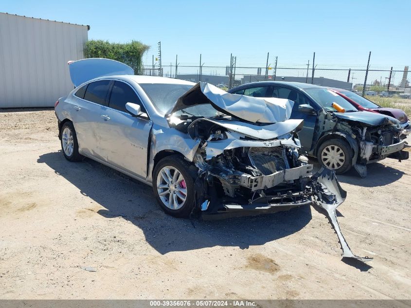
<svg viewBox="0 0 411 308"><path fill-rule="evenodd" d="M290 118L294 102L231 94L209 83L199 82L180 96L167 114L201 104L211 104L218 111L252 123L278 123Z"/></svg>

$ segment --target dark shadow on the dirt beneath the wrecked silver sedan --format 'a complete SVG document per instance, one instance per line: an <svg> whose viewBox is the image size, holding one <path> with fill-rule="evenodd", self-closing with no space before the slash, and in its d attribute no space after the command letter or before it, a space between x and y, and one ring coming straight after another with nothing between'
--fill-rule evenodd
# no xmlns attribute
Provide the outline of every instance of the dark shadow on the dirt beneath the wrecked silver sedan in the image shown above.
<svg viewBox="0 0 411 308"><path fill-rule="evenodd" d="M46 163L56 174L75 185L81 194L103 206L105 209L98 210L98 214L107 218L123 217L132 222L161 254L214 246L247 249L291 235L311 220L310 206L225 220L174 218L160 209L151 187L100 163L89 159L70 163L61 151L41 155L37 163Z"/></svg>

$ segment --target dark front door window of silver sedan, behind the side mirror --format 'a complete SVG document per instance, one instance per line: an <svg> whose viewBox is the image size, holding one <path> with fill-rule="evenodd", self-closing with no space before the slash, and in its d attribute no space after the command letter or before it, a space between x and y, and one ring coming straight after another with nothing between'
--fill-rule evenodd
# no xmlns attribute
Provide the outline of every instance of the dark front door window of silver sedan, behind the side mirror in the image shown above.
<svg viewBox="0 0 411 308"><path fill-rule="evenodd" d="M141 111L145 112L145 109L139 97L129 85L121 81L114 82L108 107L127 112L127 110L125 109L126 103L138 104L140 105Z"/></svg>

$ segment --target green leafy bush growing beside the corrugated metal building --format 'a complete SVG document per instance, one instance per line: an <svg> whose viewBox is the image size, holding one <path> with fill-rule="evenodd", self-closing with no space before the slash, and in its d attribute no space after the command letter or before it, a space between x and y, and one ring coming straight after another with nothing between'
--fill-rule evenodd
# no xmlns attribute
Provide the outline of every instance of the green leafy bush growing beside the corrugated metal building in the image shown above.
<svg viewBox="0 0 411 308"><path fill-rule="evenodd" d="M133 68L139 75L143 72L143 54L150 47L142 42L132 40L129 43L110 43L105 40L89 40L84 48L86 58L107 58L123 62Z"/></svg>

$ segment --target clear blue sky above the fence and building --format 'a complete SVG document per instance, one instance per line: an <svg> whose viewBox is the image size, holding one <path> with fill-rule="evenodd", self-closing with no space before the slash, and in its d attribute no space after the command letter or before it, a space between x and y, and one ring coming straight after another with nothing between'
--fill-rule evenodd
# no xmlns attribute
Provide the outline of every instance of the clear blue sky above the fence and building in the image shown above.
<svg viewBox="0 0 411 308"><path fill-rule="evenodd" d="M304 65L316 52L319 67L411 65L411 1L80 1L0 0L0 11L89 24L89 39L140 40L163 65Z"/></svg>

